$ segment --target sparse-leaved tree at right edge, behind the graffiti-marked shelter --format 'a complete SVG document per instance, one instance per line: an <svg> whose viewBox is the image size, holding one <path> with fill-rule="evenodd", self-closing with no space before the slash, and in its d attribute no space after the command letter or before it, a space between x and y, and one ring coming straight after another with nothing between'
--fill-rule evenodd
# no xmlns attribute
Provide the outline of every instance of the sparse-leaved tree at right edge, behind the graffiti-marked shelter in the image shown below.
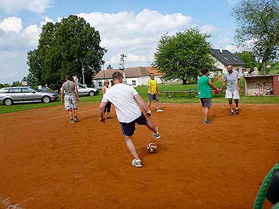
<svg viewBox="0 0 279 209"><path fill-rule="evenodd" d="M242 0L234 6L232 16L236 19L236 44L252 50L266 74L266 63L278 55L279 1Z"/></svg>

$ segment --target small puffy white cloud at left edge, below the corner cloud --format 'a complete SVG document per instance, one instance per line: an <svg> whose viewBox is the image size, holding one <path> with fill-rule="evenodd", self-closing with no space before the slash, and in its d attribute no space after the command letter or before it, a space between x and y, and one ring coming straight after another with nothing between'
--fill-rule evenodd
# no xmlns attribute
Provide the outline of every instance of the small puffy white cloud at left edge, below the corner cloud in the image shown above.
<svg viewBox="0 0 279 209"><path fill-rule="evenodd" d="M22 31L22 19L18 17L8 17L0 22L0 29L7 32L20 33L20 31Z"/></svg>

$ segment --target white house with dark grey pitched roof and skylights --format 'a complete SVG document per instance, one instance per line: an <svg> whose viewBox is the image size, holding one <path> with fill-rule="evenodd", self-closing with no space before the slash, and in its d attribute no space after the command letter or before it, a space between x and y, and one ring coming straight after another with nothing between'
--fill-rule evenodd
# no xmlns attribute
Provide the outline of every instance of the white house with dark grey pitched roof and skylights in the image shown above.
<svg viewBox="0 0 279 209"><path fill-rule="evenodd" d="M213 72L222 75L227 72L227 65L232 65L233 70L243 74L243 65L245 64L239 57L225 49L211 49L213 60L216 62L216 68Z"/></svg>

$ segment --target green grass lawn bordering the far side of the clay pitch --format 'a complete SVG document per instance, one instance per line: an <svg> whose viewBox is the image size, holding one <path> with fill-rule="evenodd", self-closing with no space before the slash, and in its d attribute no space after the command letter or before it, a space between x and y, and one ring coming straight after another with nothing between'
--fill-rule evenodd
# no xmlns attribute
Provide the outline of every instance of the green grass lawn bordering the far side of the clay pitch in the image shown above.
<svg viewBox="0 0 279 209"><path fill-rule="evenodd" d="M222 82L215 82L214 85L217 88L220 88L222 85ZM243 86L243 79L241 79L241 86ZM147 86L140 86L136 87L138 93L142 95L142 98L144 98L145 101L148 100L148 94L147 94ZM167 95L165 93L162 93L163 91L176 91L176 90L190 90L190 89L197 89L197 84L189 84L189 85L182 85L182 84L165 84L160 85L159 90L161 92L160 96L160 102L169 102L169 103L199 103L198 98L189 98L188 93L176 93L171 95L170 98L167 98ZM80 98L80 105L89 105L94 102L100 102L102 98L102 95L95 95L93 97L81 97ZM227 100L225 99L224 93L220 95L213 95L213 103L227 103ZM273 97L273 96L245 96L243 93L243 88L241 88L241 103L246 104L279 104L279 97ZM52 106L58 106L61 105L61 108L63 108L60 98L56 100L56 102L50 102L49 104L43 104L40 102L31 103L31 104L13 104L11 106L6 105L0 105L0 114L2 113L8 113L12 111L22 111L27 109L34 109L39 107L52 107Z"/></svg>

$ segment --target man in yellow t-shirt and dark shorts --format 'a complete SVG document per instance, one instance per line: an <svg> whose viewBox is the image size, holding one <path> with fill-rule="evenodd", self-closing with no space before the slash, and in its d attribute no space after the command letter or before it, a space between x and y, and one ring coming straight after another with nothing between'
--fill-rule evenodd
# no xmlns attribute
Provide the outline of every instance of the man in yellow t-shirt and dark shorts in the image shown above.
<svg viewBox="0 0 279 209"><path fill-rule="evenodd" d="M150 79L148 81L148 93L149 93L149 109L151 107L151 101L155 100L156 101L156 111L163 111L163 109L159 108L159 95L160 91L158 89L157 81L154 79L154 73L150 73Z"/></svg>

